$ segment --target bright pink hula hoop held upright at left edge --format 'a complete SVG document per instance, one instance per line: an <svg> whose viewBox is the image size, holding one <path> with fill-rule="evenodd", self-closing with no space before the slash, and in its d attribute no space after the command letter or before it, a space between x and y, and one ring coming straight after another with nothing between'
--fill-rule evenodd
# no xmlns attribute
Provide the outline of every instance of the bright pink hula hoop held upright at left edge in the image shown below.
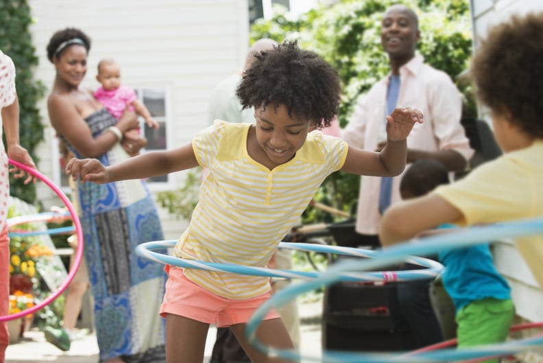
<svg viewBox="0 0 543 363"><path fill-rule="evenodd" d="M29 307L28 309L23 310L22 312L18 312L15 314L10 314L6 316L0 316L0 321L8 321L13 320L17 318L21 318L28 314L33 314L34 312L37 312L39 309L45 307L45 305L48 305L53 300L55 300L64 290L68 288L68 285L71 283L73 277L75 276L75 272L77 272L77 269L79 268L81 264L81 259L83 255L83 232L81 227L81 222L79 218L77 217L77 213L75 212L75 209L73 207L73 204L71 204L69 198L64 194L64 192L57 187L49 178L47 178L45 175L38 172L37 169L34 169L32 167L28 167L27 165L18 163L17 161L14 161L12 159L8 160L10 164L19 167L19 169L23 169L25 172L32 174L33 176L36 176L39 180L42 180L45 184L47 184L55 193L56 195L64 202L64 205L68 208L68 211L71 215L71 218L73 220L73 224L75 226L75 231L77 233L77 249L75 250L75 259L73 261L73 266L70 269L68 276L66 280L60 284L58 289L53 292L51 295L47 296L47 298L43 299L43 301L40 301L40 303Z"/></svg>

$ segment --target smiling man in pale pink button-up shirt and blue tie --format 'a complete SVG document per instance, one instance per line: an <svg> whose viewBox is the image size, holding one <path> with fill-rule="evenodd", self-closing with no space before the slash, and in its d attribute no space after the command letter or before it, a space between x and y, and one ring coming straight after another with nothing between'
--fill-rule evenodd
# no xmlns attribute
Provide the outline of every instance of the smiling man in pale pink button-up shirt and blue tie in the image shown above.
<svg viewBox="0 0 543 363"><path fill-rule="evenodd" d="M405 5L393 5L383 15L381 25L381 43L389 56L391 73L358 100L348 126L342 130L343 139L357 148L381 150L386 142L381 135L385 135L387 108L409 106L422 111L424 123L415 125L407 137L407 167L413 161L431 158L444 163L450 172L463 170L474 150L460 124L461 95L446 73L424 64L415 52L420 38L415 12ZM401 175L391 180L390 204L401 199L400 179ZM357 212L361 244L379 244L381 180L361 178ZM429 280L400 283L397 297L387 296L396 329L412 331L413 342L406 341L404 349L442 340L429 301L429 284Z"/></svg>

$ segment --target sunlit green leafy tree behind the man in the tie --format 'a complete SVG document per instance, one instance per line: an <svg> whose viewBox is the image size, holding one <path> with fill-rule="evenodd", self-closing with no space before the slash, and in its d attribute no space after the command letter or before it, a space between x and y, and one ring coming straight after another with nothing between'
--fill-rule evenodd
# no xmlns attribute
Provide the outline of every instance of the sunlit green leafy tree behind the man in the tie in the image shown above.
<svg viewBox="0 0 543 363"><path fill-rule="evenodd" d="M331 7L313 9L292 18L281 5L272 19L258 19L250 38L278 42L298 40L330 62L339 73L343 94L339 121L345 126L358 97L389 72L387 54L381 47L381 17L396 0L343 0ZM418 51L426 62L455 80L466 97L468 110L475 109L472 90L458 76L468 68L472 51L469 4L466 0L405 0L419 17ZM315 200L350 210L358 197L359 176L337 172L323 183ZM309 207L304 222L329 222L330 215Z"/></svg>

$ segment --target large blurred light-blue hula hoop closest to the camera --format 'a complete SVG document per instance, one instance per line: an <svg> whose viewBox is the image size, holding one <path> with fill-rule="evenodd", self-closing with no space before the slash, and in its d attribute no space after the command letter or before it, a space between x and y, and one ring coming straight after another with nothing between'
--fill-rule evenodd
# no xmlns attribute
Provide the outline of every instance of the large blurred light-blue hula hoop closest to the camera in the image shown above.
<svg viewBox="0 0 543 363"><path fill-rule="evenodd" d="M318 361L318 362L453 362L459 360L473 360L501 355L509 355L520 351L529 351L533 347L541 349L543 346L543 335L516 342L505 342L503 344L488 344L481 347L463 349L442 349L440 351L426 351L413 355L393 353L352 353L324 351L321 358L302 356L298 351L291 349L276 349L267 347L256 338L256 329L270 309L281 307L291 301L298 294L315 290L322 285L330 285L340 281L344 271L353 270L374 270L380 266L394 264L405 258L405 255L430 255L439 252L443 248L463 248L476 244L487 244L489 241L520 237L526 235L542 235L543 219L521 220L517 222L504 222L491 226L473 226L458 229L455 232L444 235L425 237L421 239L398 244L383 250L374 259L363 259L360 261L340 261L322 273L318 279L302 283L293 283L287 288L276 292L272 297L258 307L245 327L245 336L249 342L268 356L280 357L287 360ZM411 243L409 243L411 242Z"/></svg>

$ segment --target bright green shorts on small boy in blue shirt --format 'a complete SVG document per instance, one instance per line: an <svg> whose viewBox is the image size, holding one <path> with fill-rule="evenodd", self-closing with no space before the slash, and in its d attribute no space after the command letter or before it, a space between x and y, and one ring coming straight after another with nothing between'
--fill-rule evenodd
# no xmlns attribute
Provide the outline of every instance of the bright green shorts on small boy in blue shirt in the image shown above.
<svg viewBox="0 0 543 363"><path fill-rule="evenodd" d="M511 299L485 298L463 307L457 314L458 347L505 342L515 316ZM498 362L485 360L485 363Z"/></svg>

